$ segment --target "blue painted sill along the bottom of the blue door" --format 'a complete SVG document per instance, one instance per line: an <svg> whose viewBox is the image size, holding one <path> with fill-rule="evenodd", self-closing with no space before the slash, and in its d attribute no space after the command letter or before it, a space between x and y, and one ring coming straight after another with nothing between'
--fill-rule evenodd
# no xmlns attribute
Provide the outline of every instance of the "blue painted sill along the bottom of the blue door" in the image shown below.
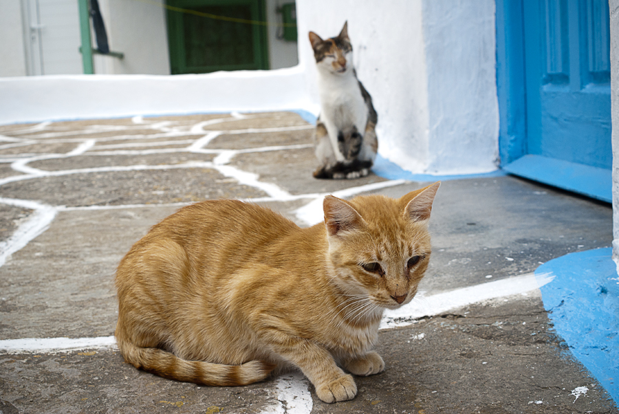
<svg viewBox="0 0 619 414"><path fill-rule="evenodd" d="M503 166L508 173L550 184L598 200L611 203L611 170L576 164L541 155L525 155Z"/></svg>

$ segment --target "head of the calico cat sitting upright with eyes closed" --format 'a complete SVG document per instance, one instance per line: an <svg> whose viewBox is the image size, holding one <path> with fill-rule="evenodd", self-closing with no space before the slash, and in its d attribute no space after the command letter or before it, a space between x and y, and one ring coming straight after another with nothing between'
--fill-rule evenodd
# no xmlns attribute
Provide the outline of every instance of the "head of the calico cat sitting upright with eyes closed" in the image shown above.
<svg viewBox="0 0 619 414"><path fill-rule="evenodd" d="M318 67L338 74L344 74L353 67L352 45L348 37L347 27L348 22L345 22L344 28L338 36L324 41L318 34L310 32L310 43L312 43L314 58L316 58Z"/></svg>

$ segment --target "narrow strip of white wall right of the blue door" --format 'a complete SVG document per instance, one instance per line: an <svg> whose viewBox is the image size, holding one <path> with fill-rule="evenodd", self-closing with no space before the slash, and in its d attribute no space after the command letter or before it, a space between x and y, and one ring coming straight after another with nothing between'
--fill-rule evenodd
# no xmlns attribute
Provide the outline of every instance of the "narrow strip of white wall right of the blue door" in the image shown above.
<svg viewBox="0 0 619 414"><path fill-rule="evenodd" d="M613 122L613 259L619 268L619 0L609 0Z"/></svg>

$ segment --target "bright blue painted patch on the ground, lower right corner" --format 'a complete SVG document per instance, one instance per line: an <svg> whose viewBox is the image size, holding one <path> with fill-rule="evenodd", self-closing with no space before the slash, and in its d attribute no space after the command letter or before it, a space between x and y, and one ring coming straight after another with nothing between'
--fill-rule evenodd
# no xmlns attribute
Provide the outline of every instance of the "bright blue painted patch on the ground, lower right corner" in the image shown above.
<svg viewBox="0 0 619 414"><path fill-rule="evenodd" d="M619 403L619 276L612 249L570 253L541 265L554 275L541 287L557 334Z"/></svg>

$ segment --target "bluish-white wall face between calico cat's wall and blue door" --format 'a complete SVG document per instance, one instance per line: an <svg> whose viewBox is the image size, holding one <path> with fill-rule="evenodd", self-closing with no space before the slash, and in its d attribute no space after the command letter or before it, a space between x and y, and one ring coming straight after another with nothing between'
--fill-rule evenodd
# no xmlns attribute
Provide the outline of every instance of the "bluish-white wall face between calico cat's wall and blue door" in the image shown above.
<svg viewBox="0 0 619 414"><path fill-rule="evenodd" d="M426 0L428 164L425 173L497 169L495 1Z"/></svg>

